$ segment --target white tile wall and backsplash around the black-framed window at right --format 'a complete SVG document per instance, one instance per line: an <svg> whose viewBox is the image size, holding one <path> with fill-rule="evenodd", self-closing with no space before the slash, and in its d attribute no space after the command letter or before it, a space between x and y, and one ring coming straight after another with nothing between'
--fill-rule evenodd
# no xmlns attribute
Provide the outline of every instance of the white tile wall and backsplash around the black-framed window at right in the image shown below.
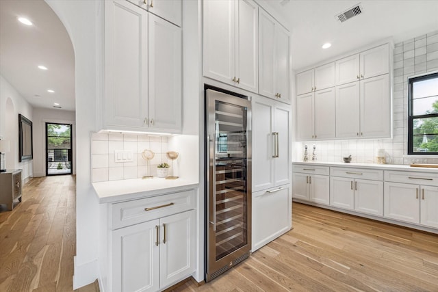
<svg viewBox="0 0 438 292"><path fill-rule="evenodd" d="M399 42L394 46L394 137L376 140L330 140L296 142L294 157L302 161L304 146L316 145L318 161L342 162L352 156L352 162L377 163L376 152L384 148L387 163L438 163L435 157L407 157L408 77L438 70L438 30ZM311 154L311 152L309 153Z"/></svg>

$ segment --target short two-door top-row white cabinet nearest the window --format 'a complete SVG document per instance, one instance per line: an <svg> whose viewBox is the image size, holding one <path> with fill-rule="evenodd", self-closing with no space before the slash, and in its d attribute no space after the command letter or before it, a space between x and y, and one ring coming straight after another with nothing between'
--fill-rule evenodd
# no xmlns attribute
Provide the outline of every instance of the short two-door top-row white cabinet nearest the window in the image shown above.
<svg viewBox="0 0 438 292"><path fill-rule="evenodd" d="M389 72L389 44L336 61L336 85L359 81Z"/></svg>

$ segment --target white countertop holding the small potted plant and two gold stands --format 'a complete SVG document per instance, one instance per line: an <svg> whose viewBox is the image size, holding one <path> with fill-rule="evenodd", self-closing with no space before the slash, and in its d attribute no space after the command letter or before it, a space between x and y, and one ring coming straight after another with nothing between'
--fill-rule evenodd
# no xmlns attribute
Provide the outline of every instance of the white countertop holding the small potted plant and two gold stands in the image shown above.
<svg viewBox="0 0 438 292"><path fill-rule="evenodd" d="M199 183L181 178L166 179L154 176L152 179L133 178L121 181L102 181L92 183L92 185L99 198L99 203L112 203L194 189L198 187Z"/></svg>

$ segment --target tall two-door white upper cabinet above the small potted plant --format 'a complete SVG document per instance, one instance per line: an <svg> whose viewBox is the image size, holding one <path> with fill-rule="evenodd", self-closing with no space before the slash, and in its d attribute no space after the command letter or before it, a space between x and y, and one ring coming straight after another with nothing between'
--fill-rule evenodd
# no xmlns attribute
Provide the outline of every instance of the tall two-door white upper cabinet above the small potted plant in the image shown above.
<svg viewBox="0 0 438 292"><path fill-rule="evenodd" d="M103 129L181 132L181 29L105 1Z"/></svg>

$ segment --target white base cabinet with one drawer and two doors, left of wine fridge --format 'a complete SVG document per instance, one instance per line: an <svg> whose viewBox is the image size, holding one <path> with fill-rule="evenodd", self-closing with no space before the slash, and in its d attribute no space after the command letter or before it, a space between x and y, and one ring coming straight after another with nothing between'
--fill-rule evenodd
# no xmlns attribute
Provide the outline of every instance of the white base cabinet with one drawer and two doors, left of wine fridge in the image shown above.
<svg viewBox="0 0 438 292"><path fill-rule="evenodd" d="M108 291L162 291L192 275L194 200L194 191L188 190L110 205L117 229L108 235Z"/></svg>

